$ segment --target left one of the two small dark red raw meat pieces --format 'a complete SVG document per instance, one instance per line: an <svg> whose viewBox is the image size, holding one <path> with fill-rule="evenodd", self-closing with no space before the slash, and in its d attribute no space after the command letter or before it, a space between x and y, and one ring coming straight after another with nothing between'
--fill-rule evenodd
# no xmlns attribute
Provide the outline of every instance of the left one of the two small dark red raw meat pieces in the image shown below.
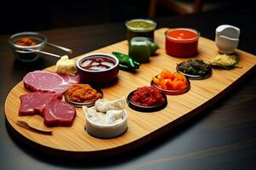
<svg viewBox="0 0 256 170"><path fill-rule="evenodd" d="M20 116L41 114L43 112L44 106L49 102L49 99L56 96L61 99L61 95L44 93L44 92L34 92L31 94L25 94L20 96Z"/></svg>

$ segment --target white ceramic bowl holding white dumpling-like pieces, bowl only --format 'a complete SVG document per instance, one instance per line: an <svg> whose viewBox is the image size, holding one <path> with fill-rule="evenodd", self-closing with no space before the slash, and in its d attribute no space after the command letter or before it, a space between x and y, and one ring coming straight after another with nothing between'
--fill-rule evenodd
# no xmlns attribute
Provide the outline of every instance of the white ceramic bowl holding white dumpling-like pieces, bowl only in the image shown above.
<svg viewBox="0 0 256 170"><path fill-rule="evenodd" d="M84 111L85 113L85 111ZM86 131L100 139L110 139L125 133L127 129L127 112L124 109L123 119L113 124L100 124L90 120L85 113Z"/></svg>

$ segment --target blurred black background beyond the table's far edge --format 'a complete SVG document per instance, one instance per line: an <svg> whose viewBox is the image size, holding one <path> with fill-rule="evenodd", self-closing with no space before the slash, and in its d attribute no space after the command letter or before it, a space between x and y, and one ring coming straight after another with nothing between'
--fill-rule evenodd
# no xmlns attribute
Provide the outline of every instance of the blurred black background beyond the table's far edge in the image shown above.
<svg viewBox="0 0 256 170"><path fill-rule="evenodd" d="M93 0L9 1L0 7L0 34L69 26L125 22L134 18L206 13L250 7L249 0Z"/></svg>

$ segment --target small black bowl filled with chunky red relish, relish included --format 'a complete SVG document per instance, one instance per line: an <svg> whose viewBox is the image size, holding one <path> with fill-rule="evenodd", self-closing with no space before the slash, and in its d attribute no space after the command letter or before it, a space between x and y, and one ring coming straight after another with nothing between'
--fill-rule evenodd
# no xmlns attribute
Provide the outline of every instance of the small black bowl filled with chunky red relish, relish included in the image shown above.
<svg viewBox="0 0 256 170"><path fill-rule="evenodd" d="M154 112L167 105L166 94L154 87L137 88L127 97L129 107L135 111Z"/></svg>

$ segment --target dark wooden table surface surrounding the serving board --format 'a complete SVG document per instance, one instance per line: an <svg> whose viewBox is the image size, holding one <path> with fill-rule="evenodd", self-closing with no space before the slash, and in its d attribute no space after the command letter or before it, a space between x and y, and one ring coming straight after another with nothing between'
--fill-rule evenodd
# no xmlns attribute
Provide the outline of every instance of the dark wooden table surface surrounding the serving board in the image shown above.
<svg viewBox="0 0 256 170"><path fill-rule="evenodd" d="M200 31L202 37L212 40L217 26L237 26L241 28L239 48L256 54L254 16L253 9L247 8L173 16L156 21L158 28L192 27ZM124 23L40 32L49 38L49 42L72 48L73 56L125 39ZM56 59L44 56L34 65L22 65L9 50L8 37L0 36L1 169L256 169L255 71L200 115L119 156L75 161L32 149L10 132L4 116L4 102L9 91L27 72L55 65Z"/></svg>

